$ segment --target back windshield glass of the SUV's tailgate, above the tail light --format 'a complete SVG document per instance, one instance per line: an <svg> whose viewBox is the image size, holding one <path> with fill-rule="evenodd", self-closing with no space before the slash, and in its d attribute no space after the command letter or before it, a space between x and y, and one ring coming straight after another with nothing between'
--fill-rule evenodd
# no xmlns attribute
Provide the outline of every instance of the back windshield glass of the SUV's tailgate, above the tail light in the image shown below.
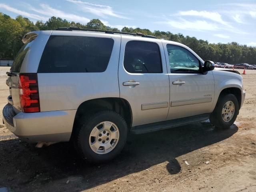
<svg viewBox="0 0 256 192"><path fill-rule="evenodd" d="M20 72L20 68L21 68L21 65L22 65L22 62L28 52L28 50L30 49L30 46L31 44L33 43L34 41L31 41L29 43L26 43L22 46L22 48L19 50L18 54L16 55L16 57L14 58L14 61L13 61L13 64L12 64L12 67L10 69L10 71L12 72Z"/></svg>

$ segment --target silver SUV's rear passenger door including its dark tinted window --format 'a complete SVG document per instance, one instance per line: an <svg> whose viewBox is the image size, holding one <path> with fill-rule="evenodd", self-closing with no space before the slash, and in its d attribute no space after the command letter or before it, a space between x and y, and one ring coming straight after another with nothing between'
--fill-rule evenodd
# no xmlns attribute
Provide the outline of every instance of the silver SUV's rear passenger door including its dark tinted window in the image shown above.
<svg viewBox="0 0 256 192"><path fill-rule="evenodd" d="M166 120L170 87L161 40L122 36L118 79L132 126Z"/></svg>

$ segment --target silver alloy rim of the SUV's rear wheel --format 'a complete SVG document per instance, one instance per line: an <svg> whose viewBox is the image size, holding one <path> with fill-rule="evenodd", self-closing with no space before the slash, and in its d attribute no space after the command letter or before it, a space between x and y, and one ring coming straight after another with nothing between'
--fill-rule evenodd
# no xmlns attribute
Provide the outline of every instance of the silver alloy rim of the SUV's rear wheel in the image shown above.
<svg viewBox="0 0 256 192"><path fill-rule="evenodd" d="M107 154L117 145L120 138L119 129L113 122L104 121L97 124L89 136L89 145L97 154Z"/></svg>

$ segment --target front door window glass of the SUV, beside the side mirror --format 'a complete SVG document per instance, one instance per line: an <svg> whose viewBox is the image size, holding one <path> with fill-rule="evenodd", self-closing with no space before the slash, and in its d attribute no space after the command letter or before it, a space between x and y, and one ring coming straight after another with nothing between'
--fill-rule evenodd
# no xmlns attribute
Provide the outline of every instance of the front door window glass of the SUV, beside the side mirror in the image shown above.
<svg viewBox="0 0 256 192"><path fill-rule="evenodd" d="M199 72L199 60L180 46L167 45L170 70L175 72Z"/></svg>

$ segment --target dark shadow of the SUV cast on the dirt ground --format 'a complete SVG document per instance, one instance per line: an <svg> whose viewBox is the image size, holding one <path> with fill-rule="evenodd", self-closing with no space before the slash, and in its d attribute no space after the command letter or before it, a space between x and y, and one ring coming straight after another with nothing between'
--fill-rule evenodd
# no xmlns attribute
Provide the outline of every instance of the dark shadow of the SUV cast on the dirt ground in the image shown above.
<svg viewBox="0 0 256 192"><path fill-rule="evenodd" d="M8 182L14 189L22 186L22 190L29 191L31 183L34 183L34 187L40 185L44 188L49 187L47 184L50 182L60 182L63 186L66 180L73 179L73 184L86 190L166 161L166 170L170 174L177 174L181 168L177 157L225 140L237 131L238 127L234 124L230 129L220 131L214 129L209 122L202 122L148 134L130 135L121 154L104 164L88 164L80 160L68 143L38 149L34 148L34 144L19 142L18 139L10 140L9 143L0 141L0 186ZM13 152L16 149L18 150ZM11 166L13 171L9 170L8 174L4 174L5 165ZM16 180L16 170L20 170L24 177ZM14 180L8 180L10 176ZM64 185L63 189L67 190L71 186Z"/></svg>

